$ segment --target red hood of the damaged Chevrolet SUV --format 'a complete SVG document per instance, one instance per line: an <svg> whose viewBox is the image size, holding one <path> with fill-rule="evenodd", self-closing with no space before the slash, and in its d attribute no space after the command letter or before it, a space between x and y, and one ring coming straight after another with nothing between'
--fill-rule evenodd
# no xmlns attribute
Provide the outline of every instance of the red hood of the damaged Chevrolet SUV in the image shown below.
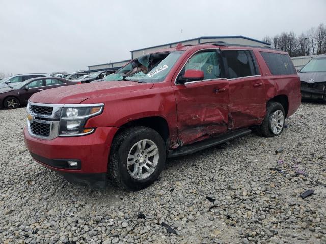
<svg viewBox="0 0 326 244"><path fill-rule="evenodd" d="M78 104L88 98L145 90L152 88L153 85L153 83L137 83L134 81L106 81L70 85L35 93L29 100L35 103Z"/></svg>

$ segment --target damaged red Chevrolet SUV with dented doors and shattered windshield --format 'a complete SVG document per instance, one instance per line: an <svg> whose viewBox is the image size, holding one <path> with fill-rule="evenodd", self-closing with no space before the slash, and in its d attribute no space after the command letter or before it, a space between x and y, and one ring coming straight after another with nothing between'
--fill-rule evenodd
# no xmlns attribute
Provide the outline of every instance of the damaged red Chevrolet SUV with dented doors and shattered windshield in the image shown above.
<svg viewBox="0 0 326 244"><path fill-rule="evenodd" d="M25 144L68 180L138 190L182 156L251 133L280 135L300 106L289 55L210 43L143 55L106 81L34 94Z"/></svg>

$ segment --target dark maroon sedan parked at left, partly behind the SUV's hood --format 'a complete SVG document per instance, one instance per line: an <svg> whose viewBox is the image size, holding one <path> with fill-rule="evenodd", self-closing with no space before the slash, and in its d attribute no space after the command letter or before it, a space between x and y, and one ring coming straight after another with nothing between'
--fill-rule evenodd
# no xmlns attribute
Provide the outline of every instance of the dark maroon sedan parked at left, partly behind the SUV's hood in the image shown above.
<svg viewBox="0 0 326 244"><path fill-rule="evenodd" d="M32 78L15 87L0 89L0 107L17 108L20 104L26 104L27 100L41 90L48 90L67 85L81 84L60 77Z"/></svg>

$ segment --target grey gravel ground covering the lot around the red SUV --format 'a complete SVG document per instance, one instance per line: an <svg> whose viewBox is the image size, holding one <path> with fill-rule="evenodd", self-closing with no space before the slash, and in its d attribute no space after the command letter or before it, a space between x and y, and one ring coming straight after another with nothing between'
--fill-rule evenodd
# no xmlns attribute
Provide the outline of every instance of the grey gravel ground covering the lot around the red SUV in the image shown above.
<svg viewBox="0 0 326 244"><path fill-rule="evenodd" d="M0 242L326 243L325 108L303 103L279 137L168 160L138 192L73 185L33 162L25 108L1 110Z"/></svg>

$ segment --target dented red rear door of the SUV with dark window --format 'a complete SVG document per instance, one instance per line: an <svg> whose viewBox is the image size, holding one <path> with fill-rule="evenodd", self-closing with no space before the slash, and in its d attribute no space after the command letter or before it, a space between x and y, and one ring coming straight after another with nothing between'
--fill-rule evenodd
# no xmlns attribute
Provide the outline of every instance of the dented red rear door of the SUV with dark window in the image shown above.
<svg viewBox="0 0 326 244"><path fill-rule="evenodd" d="M229 82L229 128L261 124L265 116L265 88L251 50L222 51Z"/></svg>

